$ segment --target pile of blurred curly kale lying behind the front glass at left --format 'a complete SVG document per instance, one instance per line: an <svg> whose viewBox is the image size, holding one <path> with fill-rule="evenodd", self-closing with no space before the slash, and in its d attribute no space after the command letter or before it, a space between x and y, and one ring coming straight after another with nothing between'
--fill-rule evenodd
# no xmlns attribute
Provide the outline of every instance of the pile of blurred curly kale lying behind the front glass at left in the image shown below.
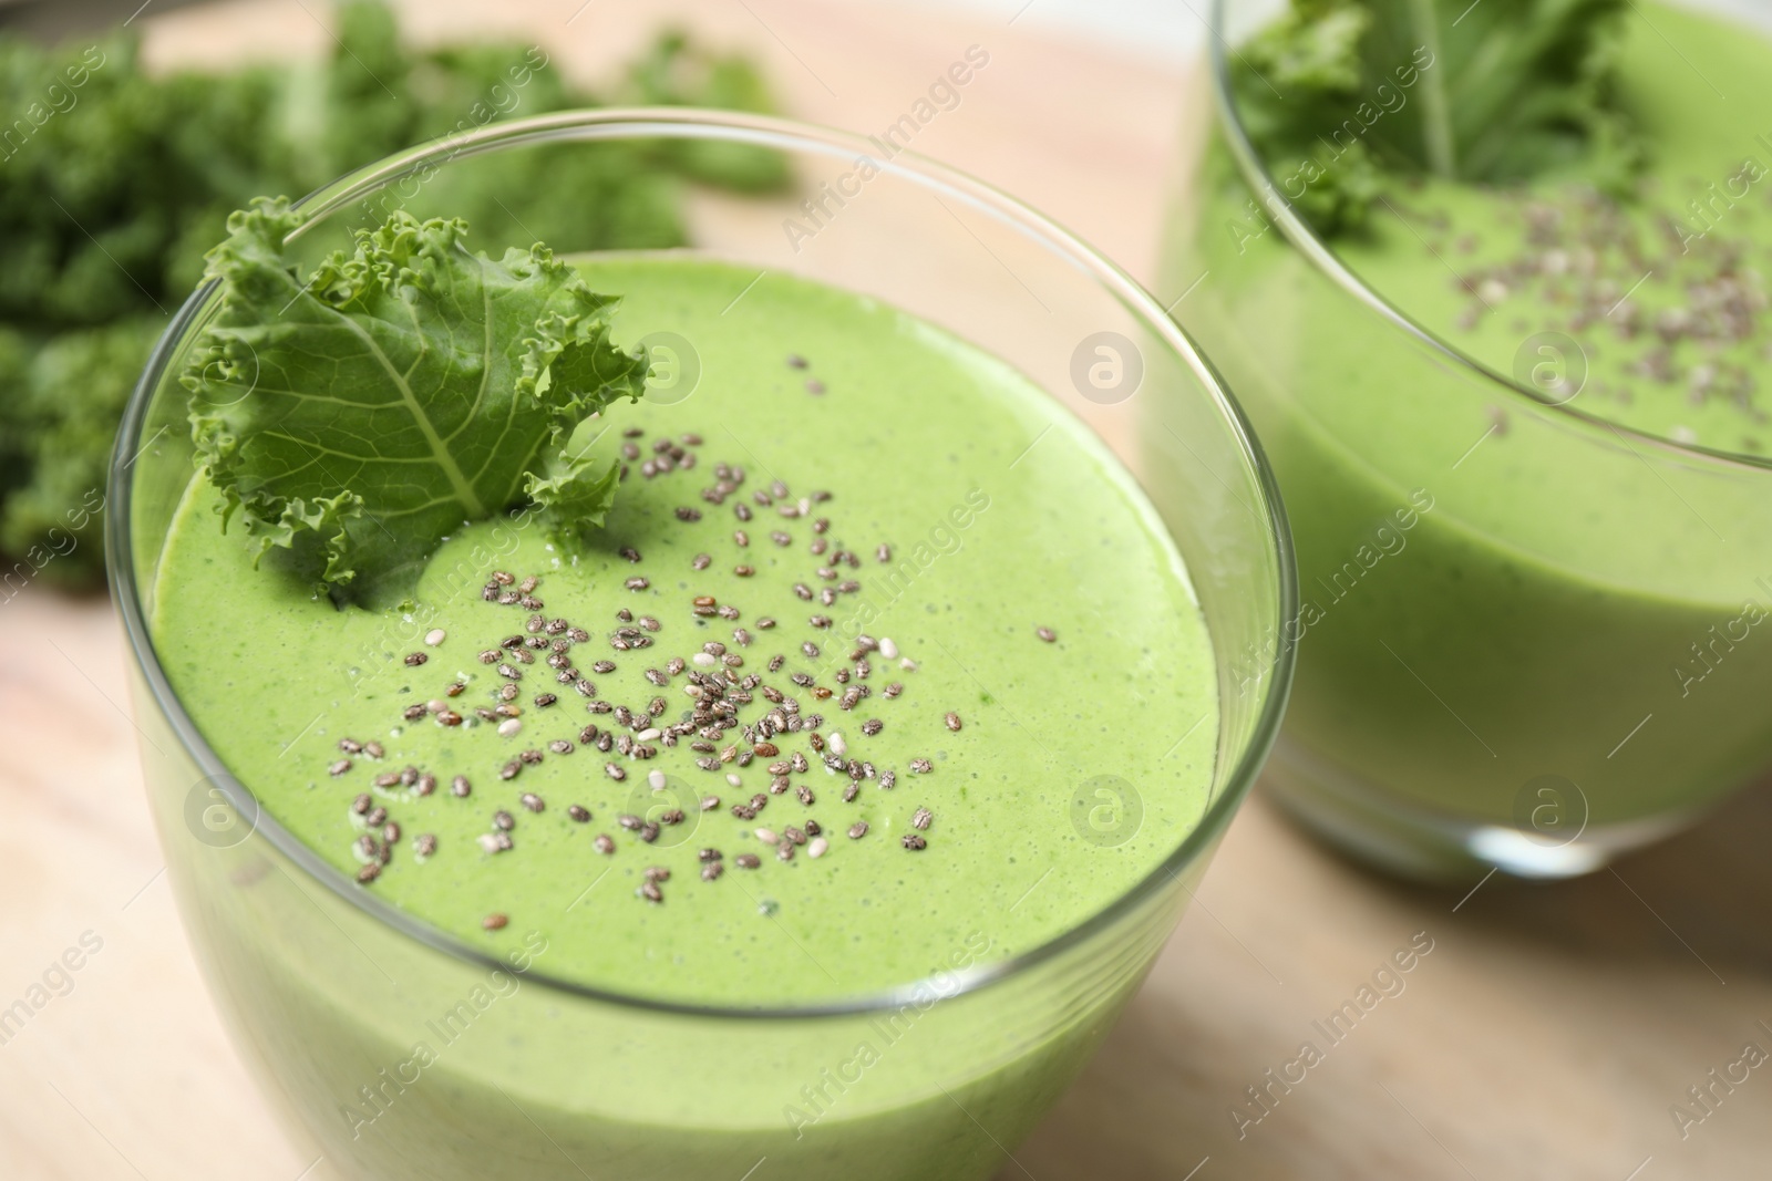
<svg viewBox="0 0 1772 1181"><path fill-rule="evenodd" d="M328 60L227 74L151 76L133 35L55 51L0 35L0 113L18 119L0 126L0 568L101 581L99 517L83 506L103 494L129 390L229 212L462 126L597 104L530 46L411 50L381 4L344 4L337 21ZM610 97L769 108L744 60L675 34ZM482 230L514 216L562 248L645 248L684 241L684 179L737 191L787 181L778 154L750 147L542 149L509 165L535 182L494 186L464 168L427 200Z"/></svg>

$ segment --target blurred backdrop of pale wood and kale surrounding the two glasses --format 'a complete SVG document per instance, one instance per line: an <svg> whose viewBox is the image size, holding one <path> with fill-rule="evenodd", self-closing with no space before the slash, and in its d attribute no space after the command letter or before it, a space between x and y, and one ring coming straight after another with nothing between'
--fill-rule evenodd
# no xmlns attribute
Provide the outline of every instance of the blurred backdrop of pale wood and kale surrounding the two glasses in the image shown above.
<svg viewBox="0 0 1772 1181"><path fill-rule="evenodd" d="M34 1009L0 1025L0 1177L333 1176L284 1139L211 1011L142 800L101 513L67 515L103 494L129 384L230 209L563 106L877 133L976 44L989 67L916 151L1150 283L1209 117L1205 16L1207 0L0 0L0 1009ZM493 89L535 53L530 85ZM645 246L734 197L789 200L794 179L670 158L539 186L517 212L565 216L562 191L595 195L608 244ZM1185 290L1155 292L1184 326ZM1122 1027L1003 1176L1765 1176L1772 1077L1710 1080L1747 1045L1772 1052L1768 843L1760 791L1586 880L1430 891L1338 861L1256 797ZM1423 933L1402 993L1304 1084L1269 1084ZM1699 1110L1694 1087L1710 1107L1682 1135L1671 1108Z"/></svg>

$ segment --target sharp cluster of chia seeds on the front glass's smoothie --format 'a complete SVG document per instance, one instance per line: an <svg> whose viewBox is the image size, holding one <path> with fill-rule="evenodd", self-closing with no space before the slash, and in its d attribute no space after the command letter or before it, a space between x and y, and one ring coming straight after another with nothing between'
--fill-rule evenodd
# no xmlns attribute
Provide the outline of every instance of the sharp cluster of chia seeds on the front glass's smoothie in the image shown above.
<svg viewBox="0 0 1772 1181"><path fill-rule="evenodd" d="M702 446L702 437L696 434L657 437L649 452L643 452L640 439L638 428L624 436L624 480L636 473L643 480L657 480L698 466L696 448ZM523 777L544 760L572 760L579 772L574 779L590 804L574 800L565 806L572 823L592 825L602 814L602 830L585 843L587 853L594 857L643 852L656 846L666 829L686 822L679 807L649 807L645 814L636 814L594 800L602 781L645 779L652 791L664 791L670 784L666 770L680 774L691 784L705 781L705 790L696 791L695 802L702 813L725 807L750 823L766 811L789 809L780 820L778 811L771 814L774 823L769 827L751 829L758 852L732 857L739 869L758 871L771 855L778 862L828 857L836 834L849 841L868 836L865 820L820 823L815 813L829 816L843 804L854 804L863 790L890 791L900 783L898 768L875 765L859 747L888 729L891 708L905 708L888 706L881 710L882 715L874 715L875 703L904 694L904 682L888 676L914 673L916 662L902 657L888 637L861 634L842 641L828 611L838 607L843 597L861 591L863 554L875 563L890 563L891 547L879 544L859 551L835 544L831 521L820 515L822 505L831 499L828 492L796 498L780 480L748 489L744 467L735 464L716 464L712 473L714 482L700 490L700 505L679 506L675 517L688 524L700 521L703 512L732 512L735 528L730 551L718 561L732 563L734 575L741 579L764 579L757 563L746 561L753 544L794 551L803 542L796 554L804 558L801 581L792 581L796 575L789 572L776 577L790 581L794 597L806 604L806 616L787 621L751 618L737 602L721 602L712 593L689 593L680 604L682 620L620 607L613 620L597 625L594 620L549 614L539 597L539 575L493 570L480 591L491 616L486 634L510 627L493 623L505 611L521 618L521 623L478 648L477 660L484 673L443 678L436 696L400 706L406 722L431 719L443 728L486 729L486 754L477 756L471 767L383 768L386 751L379 742L338 742L342 756L330 763L331 777L369 774L369 790L351 799L353 827L358 830L351 852L360 866L358 882L369 885L379 878L402 848L404 832L390 807L429 797L441 784L457 800L493 791L496 806L487 818L487 830L475 838L477 850L439 850L434 834L418 832L404 845L413 864L448 855L521 855L526 822L519 816L546 813L549 806L540 793L523 790ZM636 593L647 591L652 579L645 572L641 552L626 547L620 556L634 568L624 586ZM689 563L691 584L696 574L714 563L714 554L696 554ZM703 625L712 620L730 625L730 639L695 645L695 639L707 634ZM695 632L686 636L688 629ZM673 634L680 639L672 641ZM1040 629L1040 639L1051 641L1053 634ZM431 652L462 641L450 641L443 629L432 629L424 643L425 648L404 655L406 668L422 669L429 664ZM789 653L796 653L792 669ZM645 685L654 692L643 699L618 699L618 694L604 692L597 678L617 673L622 664L643 666ZM946 710L939 717L948 731L962 729L957 712ZM530 735L532 742L510 754L512 740L519 735ZM360 761L369 767L360 770ZM767 786L746 791L744 772L758 783L766 779ZM914 777L932 772L934 763L921 756L907 760L904 767L904 774ZM670 799L661 795L661 804ZM925 850L936 813L920 806L909 823L911 830L898 838L900 846L909 852ZM668 855L668 846L670 841L650 852ZM725 875L727 857L719 848L691 852L693 864L677 868L682 876L693 873L702 882L718 882ZM663 903L672 880L672 866L650 864L641 871L634 894L647 903ZM482 919L489 931L501 930L507 922L509 915L503 912L491 912Z"/></svg>

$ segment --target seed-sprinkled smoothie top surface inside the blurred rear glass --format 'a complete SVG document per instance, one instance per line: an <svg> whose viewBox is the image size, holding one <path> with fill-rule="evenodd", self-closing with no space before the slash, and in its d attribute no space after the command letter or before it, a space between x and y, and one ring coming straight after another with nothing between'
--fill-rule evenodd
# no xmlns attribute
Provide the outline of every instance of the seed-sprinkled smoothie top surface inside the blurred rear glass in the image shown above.
<svg viewBox="0 0 1772 1181"><path fill-rule="evenodd" d="M1377 207L1368 232L1338 243L1340 257L1496 372L1515 374L1531 336L1566 335L1579 352L1527 349L1520 375L1542 367L1542 381L1574 379L1552 391L1572 409L1675 443L1772 455L1772 402L1760 391L1772 372L1772 42L1653 5L1632 18L1620 64L1650 143L1639 197L1426 179Z"/></svg>

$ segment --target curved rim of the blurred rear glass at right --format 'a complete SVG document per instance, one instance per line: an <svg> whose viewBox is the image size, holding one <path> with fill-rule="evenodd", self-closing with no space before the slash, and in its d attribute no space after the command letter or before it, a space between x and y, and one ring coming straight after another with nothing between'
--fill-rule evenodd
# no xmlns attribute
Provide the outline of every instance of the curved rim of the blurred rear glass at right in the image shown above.
<svg viewBox="0 0 1772 1181"><path fill-rule="evenodd" d="M1331 248L1317 234L1317 230L1304 221L1304 218L1294 212L1292 202L1288 202L1274 184L1274 177L1269 174L1267 163L1262 159L1260 152L1255 151L1255 143L1249 142L1249 135L1242 126L1242 117L1237 112L1237 97L1230 89L1230 53L1235 50L1230 44L1224 19L1233 2L1235 0L1212 0L1210 44L1207 53L1212 67L1210 87L1212 101L1219 113L1219 126L1224 129L1224 140L1230 147L1232 159L1237 165L1237 172L1242 175L1244 182L1247 182L1249 188L1260 195L1263 212L1272 218L1276 227L1279 227L1286 243L1304 255L1313 267L1322 271L1341 290L1364 303L1382 319L1389 320L1393 328L1398 328L1407 336L1412 336L1418 343L1426 345L1434 352L1441 354L1441 358L1462 370L1471 372L1474 377L1501 386L1504 393L1531 402L1535 409L1561 413L1586 427L1609 430L1627 446L1630 446L1628 439L1636 439L1682 457L1698 457L1754 471L1772 469L1772 455L1749 455L1745 452L1710 448L1698 443L1680 443L1678 439L1669 439L1667 436L1660 436L1652 430L1627 427L1625 423L1611 418L1575 409L1570 402L1549 398L1538 390L1517 381L1513 375L1496 370L1449 340L1444 340L1439 333L1434 333L1414 320L1414 317L1403 312L1398 305L1354 274L1354 271L1341 262L1341 257L1334 251L1334 248Z"/></svg>

